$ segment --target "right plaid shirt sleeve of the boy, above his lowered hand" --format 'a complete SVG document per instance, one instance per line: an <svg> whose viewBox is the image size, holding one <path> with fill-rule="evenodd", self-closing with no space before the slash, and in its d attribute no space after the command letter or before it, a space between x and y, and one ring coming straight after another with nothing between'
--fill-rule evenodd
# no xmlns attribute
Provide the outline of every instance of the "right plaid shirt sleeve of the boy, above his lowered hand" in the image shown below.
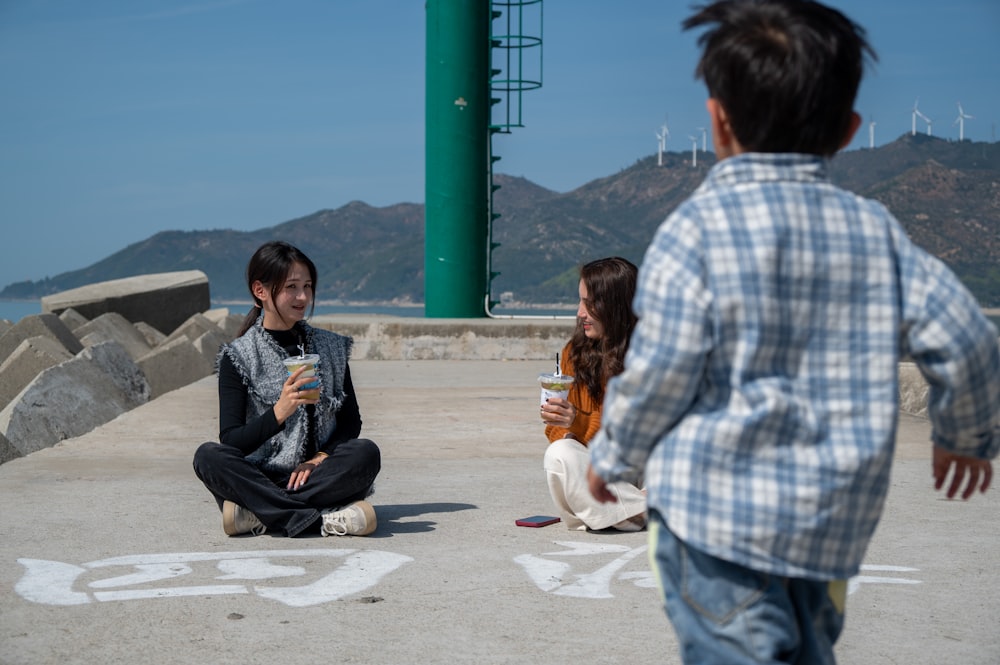
<svg viewBox="0 0 1000 665"><path fill-rule="evenodd" d="M903 351L930 385L935 444L992 459L1000 452L1000 348L976 299L941 261L899 240Z"/></svg>

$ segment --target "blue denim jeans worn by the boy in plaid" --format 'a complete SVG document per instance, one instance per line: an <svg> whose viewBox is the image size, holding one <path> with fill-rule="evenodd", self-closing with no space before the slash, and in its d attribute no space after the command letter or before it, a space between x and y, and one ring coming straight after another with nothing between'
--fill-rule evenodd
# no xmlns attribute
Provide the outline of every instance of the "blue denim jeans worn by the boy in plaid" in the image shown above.
<svg viewBox="0 0 1000 665"><path fill-rule="evenodd" d="M847 581L777 577L688 547L649 512L650 567L685 663L833 665Z"/></svg>

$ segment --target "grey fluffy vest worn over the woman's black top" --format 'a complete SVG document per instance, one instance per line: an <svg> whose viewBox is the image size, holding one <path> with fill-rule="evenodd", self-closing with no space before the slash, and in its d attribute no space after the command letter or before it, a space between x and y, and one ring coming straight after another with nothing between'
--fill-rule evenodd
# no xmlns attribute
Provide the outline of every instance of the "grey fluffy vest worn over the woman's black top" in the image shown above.
<svg viewBox="0 0 1000 665"><path fill-rule="evenodd" d="M306 340L306 352L319 354L316 368L320 380L316 405L316 445L322 446L337 428L337 411L344 403L344 375L354 340L326 330L317 330L299 322L297 331ZM272 408L281 397L287 379L282 360L288 357L274 338L264 330L263 316L241 337L222 347L220 354L232 360L247 387L247 419ZM300 408L285 420L285 427L247 455L258 468L290 473L304 458L309 440L309 417Z"/></svg>

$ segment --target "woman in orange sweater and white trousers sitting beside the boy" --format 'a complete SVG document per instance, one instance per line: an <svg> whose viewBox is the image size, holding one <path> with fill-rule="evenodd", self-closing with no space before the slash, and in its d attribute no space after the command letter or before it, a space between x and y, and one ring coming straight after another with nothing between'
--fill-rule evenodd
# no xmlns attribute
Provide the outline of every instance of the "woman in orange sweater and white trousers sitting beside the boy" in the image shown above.
<svg viewBox="0 0 1000 665"><path fill-rule="evenodd" d="M542 405L549 492L567 528L577 531L639 531L646 525L646 495L638 487L609 485L618 500L599 503L587 486L587 443L601 428L604 389L624 369L635 327L637 273L635 265L619 257L591 261L580 269L576 330L560 356L562 373L575 381L567 399L554 397Z"/></svg>

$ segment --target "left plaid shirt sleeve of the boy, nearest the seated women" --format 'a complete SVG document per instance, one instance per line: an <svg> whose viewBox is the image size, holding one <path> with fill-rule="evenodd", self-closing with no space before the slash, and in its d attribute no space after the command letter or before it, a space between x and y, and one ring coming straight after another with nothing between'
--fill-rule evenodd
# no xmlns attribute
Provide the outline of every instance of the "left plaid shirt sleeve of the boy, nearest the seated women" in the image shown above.
<svg viewBox="0 0 1000 665"><path fill-rule="evenodd" d="M711 297L698 236L696 225L675 213L643 259L633 303L639 322L589 446L595 472L608 482L641 482L653 447L691 408L703 380Z"/></svg>

